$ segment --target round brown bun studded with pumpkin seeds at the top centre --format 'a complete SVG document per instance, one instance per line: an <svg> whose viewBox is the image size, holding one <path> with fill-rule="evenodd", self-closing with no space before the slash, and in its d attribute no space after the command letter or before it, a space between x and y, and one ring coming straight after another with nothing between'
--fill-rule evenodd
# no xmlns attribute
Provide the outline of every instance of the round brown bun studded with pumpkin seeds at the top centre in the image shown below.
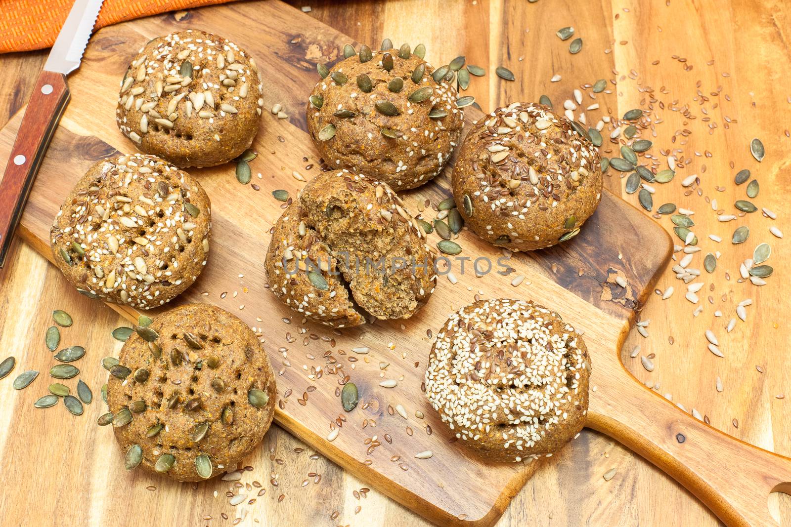
<svg viewBox="0 0 791 527"><path fill-rule="evenodd" d="M384 55L392 57L392 70L384 70ZM412 74L418 67L425 73L414 82ZM323 104L317 108L308 100L307 106L308 132L327 166L369 175L396 191L421 186L439 175L459 141L464 112L456 107L456 89L445 80L437 84L433 70L417 55L402 58L395 49L376 51L366 62L354 55L335 64L311 93L312 100L319 98ZM369 77L369 92L358 85L360 75ZM340 84L344 76L346 81ZM392 92L388 84L396 77L403 80L403 88ZM432 95L411 102L410 96L424 87L430 87ZM378 101L392 103L399 115L377 111ZM447 116L432 119L432 110L445 111ZM354 115L344 117L349 115L344 111ZM329 125L335 126L335 135L323 141L320 131ZM385 137L382 130L397 137Z"/></svg>

